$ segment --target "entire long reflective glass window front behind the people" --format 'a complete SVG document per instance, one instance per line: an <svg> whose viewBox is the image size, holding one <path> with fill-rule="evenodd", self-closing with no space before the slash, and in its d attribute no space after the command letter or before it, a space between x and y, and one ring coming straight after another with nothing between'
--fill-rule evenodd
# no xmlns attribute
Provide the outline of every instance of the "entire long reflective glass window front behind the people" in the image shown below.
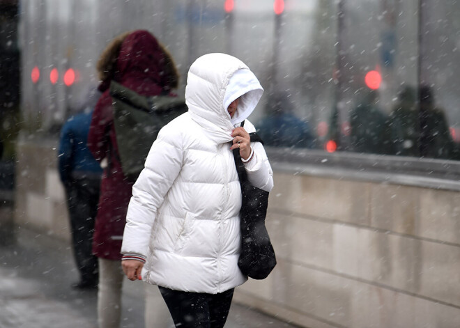
<svg viewBox="0 0 460 328"><path fill-rule="evenodd" d="M91 1L72 13L55 2L24 1L22 13L24 112L44 125L78 107L107 40L142 28L173 54L179 93L207 52L250 65L266 90L250 118L266 146L460 159L460 1L119 0L94 15ZM75 85L50 83L68 67Z"/></svg>

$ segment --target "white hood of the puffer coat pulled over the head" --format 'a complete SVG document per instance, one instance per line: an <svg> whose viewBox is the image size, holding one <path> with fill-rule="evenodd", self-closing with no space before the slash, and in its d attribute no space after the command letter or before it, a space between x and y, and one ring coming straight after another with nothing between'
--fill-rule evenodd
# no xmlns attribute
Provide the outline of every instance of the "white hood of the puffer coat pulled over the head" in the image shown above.
<svg viewBox="0 0 460 328"><path fill-rule="evenodd" d="M208 137L225 143L233 139L233 126L254 111L262 93L259 80L243 61L227 54L206 54L190 66L185 102L192 120ZM238 109L230 118L227 108L238 97Z"/></svg>

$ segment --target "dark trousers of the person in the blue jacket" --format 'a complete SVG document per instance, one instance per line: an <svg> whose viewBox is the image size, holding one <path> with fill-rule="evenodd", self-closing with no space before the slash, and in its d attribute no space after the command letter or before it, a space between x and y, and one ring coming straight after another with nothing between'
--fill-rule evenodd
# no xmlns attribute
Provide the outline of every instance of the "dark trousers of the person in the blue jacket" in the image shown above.
<svg viewBox="0 0 460 328"><path fill-rule="evenodd" d="M98 283L98 258L93 256L94 221L98 212L100 180L72 178L66 185L73 253L82 283Z"/></svg>

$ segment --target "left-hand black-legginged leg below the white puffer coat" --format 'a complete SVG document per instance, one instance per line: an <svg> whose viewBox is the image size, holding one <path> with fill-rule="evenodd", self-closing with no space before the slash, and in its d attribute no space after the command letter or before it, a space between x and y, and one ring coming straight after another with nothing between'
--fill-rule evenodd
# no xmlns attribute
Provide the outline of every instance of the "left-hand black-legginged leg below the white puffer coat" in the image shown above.
<svg viewBox="0 0 460 328"><path fill-rule="evenodd" d="M181 328L210 328L206 294L183 292L158 286L174 325Z"/></svg>

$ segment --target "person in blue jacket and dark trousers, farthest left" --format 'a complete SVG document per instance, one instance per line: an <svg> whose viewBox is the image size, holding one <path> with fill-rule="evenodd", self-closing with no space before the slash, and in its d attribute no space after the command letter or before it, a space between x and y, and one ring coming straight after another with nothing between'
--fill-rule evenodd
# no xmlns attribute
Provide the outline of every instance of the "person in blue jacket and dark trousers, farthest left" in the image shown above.
<svg viewBox="0 0 460 328"><path fill-rule="evenodd" d="M102 169L86 146L93 110L71 116L63 125L59 143L59 175L66 189L73 253L80 274L75 288L98 286L98 259L91 251L98 211Z"/></svg>

